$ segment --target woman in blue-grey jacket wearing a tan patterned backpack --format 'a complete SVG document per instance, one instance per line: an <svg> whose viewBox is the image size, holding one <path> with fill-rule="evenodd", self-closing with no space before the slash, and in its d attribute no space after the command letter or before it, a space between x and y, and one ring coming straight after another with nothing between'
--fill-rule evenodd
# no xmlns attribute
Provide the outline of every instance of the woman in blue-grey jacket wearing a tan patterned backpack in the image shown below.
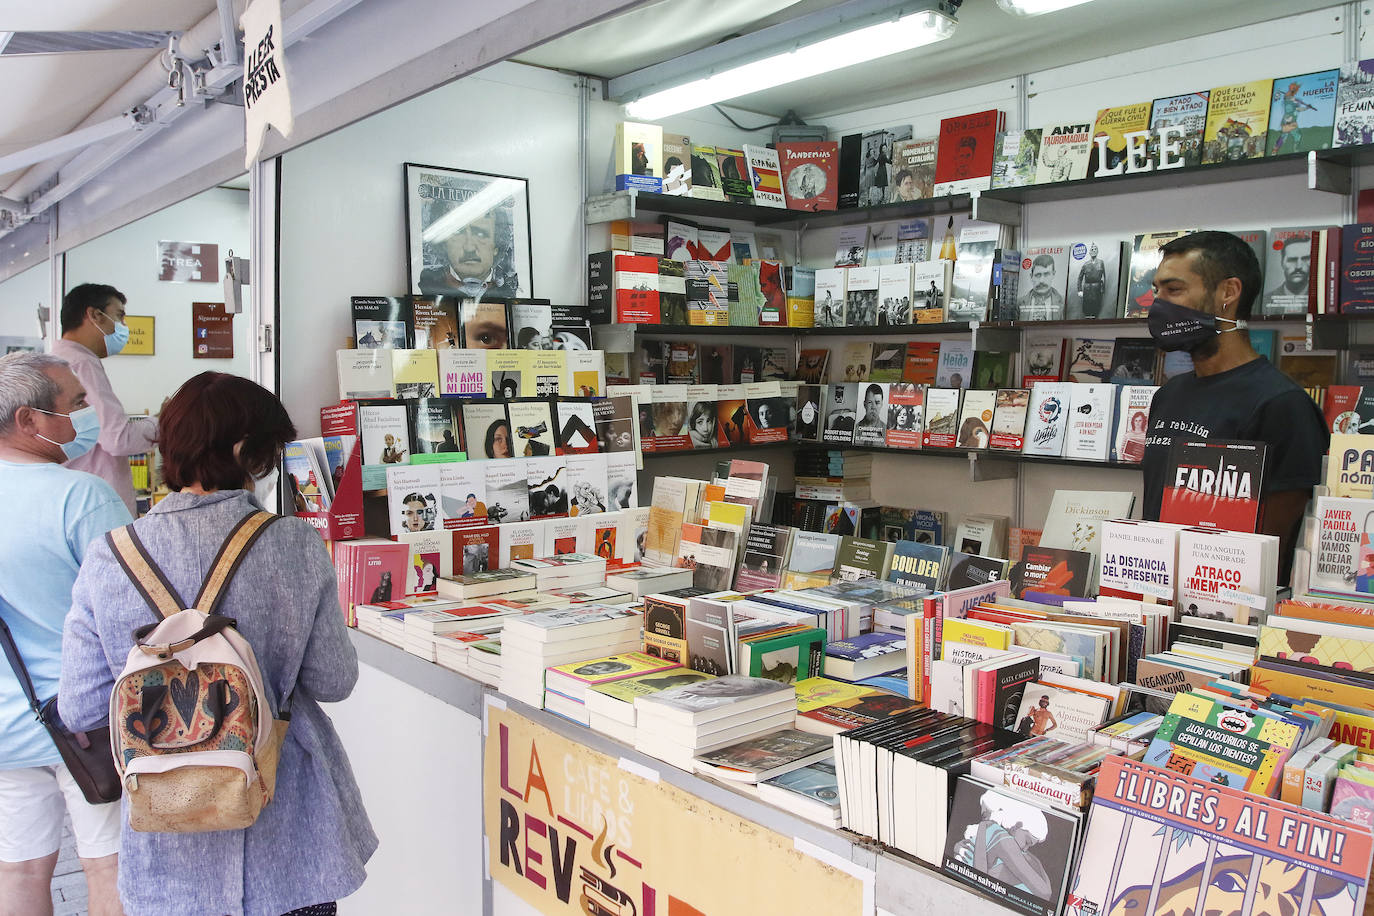
<svg viewBox="0 0 1374 916"><path fill-rule="evenodd" d="M334 913L376 849L320 709L357 681L334 567L315 529L254 496L294 437L261 386L192 378L162 411L172 493L77 577L62 717L110 718L129 916Z"/></svg>

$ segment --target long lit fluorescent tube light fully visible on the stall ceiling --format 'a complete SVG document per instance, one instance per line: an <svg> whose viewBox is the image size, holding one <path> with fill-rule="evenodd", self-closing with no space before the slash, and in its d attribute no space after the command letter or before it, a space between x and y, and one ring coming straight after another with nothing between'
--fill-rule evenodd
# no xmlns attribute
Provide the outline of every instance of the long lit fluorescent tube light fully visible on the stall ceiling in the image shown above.
<svg viewBox="0 0 1374 916"><path fill-rule="evenodd" d="M640 121L657 121L941 41L954 34L955 25L954 19L940 12L912 12L653 92L625 104L625 114Z"/></svg>

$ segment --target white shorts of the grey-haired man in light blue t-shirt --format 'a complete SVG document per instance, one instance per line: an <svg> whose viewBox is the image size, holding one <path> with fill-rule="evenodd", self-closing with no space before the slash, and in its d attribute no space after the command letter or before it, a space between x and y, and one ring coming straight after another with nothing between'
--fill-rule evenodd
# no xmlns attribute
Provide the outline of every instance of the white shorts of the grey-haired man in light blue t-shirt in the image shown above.
<svg viewBox="0 0 1374 916"><path fill-rule="evenodd" d="M71 814L77 856L120 851L120 802L92 805L62 764L0 769L0 862L25 862L58 851L62 814Z"/></svg>

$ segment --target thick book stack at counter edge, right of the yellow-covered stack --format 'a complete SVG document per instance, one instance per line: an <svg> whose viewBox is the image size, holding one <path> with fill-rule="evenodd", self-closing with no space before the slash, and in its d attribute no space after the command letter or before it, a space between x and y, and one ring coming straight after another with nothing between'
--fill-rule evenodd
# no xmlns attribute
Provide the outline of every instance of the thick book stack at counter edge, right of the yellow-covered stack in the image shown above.
<svg viewBox="0 0 1374 916"><path fill-rule="evenodd" d="M695 757L749 737L791 728L791 685L730 674L635 699L635 750L692 770Z"/></svg>

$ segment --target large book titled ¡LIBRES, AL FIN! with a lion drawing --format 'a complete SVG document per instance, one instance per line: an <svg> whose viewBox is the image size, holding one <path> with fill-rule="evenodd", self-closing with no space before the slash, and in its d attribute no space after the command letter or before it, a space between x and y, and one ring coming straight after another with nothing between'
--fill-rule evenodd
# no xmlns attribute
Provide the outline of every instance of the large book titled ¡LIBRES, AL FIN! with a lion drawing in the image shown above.
<svg viewBox="0 0 1374 916"><path fill-rule="evenodd" d="M1173 798L1197 806L1173 806ZM1282 832L1256 831L1260 817L1282 823ZM1341 853L1333 857L1334 849ZM1239 916L1356 916L1364 908L1370 857L1364 828L1216 786L1195 772L1107 757L1066 909L1118 913L1153 900L1157 909L1189 901L1180 905Z"/></svg>

